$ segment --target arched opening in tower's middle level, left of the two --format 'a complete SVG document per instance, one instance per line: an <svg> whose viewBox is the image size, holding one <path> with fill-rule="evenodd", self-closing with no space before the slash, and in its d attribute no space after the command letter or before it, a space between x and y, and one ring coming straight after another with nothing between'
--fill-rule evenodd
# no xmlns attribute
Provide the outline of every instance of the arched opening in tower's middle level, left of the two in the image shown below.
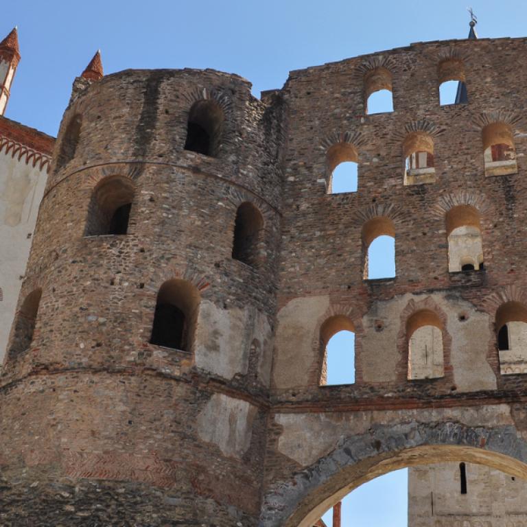
<svg viewBox="0 0 527 527"><path fill-rule="evenodd" d="M93 190L86 219L85 236L126 234L134 198L128 178L108 176Z"/></svg>

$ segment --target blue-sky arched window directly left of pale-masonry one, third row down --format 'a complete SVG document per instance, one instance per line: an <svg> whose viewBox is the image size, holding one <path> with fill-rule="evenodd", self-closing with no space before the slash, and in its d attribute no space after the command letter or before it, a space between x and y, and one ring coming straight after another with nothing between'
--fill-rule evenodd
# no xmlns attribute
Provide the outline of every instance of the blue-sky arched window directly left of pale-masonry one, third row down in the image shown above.
<svg viewBox="0 0 527 527"><path fill-rule="evenodd" d="M395 272L395 226L386 216L368 220L362 227L364 280L393 278Z"/></svg>

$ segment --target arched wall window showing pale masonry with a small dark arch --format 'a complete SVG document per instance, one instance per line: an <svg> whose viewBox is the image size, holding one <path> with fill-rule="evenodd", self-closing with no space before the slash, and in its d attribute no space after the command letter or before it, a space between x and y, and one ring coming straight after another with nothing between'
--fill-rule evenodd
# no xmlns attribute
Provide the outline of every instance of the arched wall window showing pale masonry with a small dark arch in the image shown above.
<svg viewBox="0 0 527 527"><path fill-rule="evenodd" d="M458 205L447 212L448 271L483 269L480 213L471 205Z"/></svg>

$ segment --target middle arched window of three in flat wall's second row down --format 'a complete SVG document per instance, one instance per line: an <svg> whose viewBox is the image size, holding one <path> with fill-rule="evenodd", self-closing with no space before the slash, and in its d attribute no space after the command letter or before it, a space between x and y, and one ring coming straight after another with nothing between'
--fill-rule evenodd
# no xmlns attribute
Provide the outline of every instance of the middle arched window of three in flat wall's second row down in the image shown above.
<svg viewBox="0 0 527 527"><path fill-rule="evenodd" d="M411 132L403 143L404 185L435 183L434 140L425 132Z"/></svg>

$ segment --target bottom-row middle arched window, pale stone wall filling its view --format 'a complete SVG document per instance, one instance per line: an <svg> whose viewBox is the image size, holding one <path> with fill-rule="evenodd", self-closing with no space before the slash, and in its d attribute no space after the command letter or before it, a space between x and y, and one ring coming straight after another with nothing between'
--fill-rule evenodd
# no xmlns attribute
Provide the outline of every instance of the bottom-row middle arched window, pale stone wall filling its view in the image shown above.
<svg viewBox="0 0 527 527"><path fill-rule="evenodd" d="M408 380L436 379L445 375L443 323L430 309L421 309L406 322Z"/></svg>

